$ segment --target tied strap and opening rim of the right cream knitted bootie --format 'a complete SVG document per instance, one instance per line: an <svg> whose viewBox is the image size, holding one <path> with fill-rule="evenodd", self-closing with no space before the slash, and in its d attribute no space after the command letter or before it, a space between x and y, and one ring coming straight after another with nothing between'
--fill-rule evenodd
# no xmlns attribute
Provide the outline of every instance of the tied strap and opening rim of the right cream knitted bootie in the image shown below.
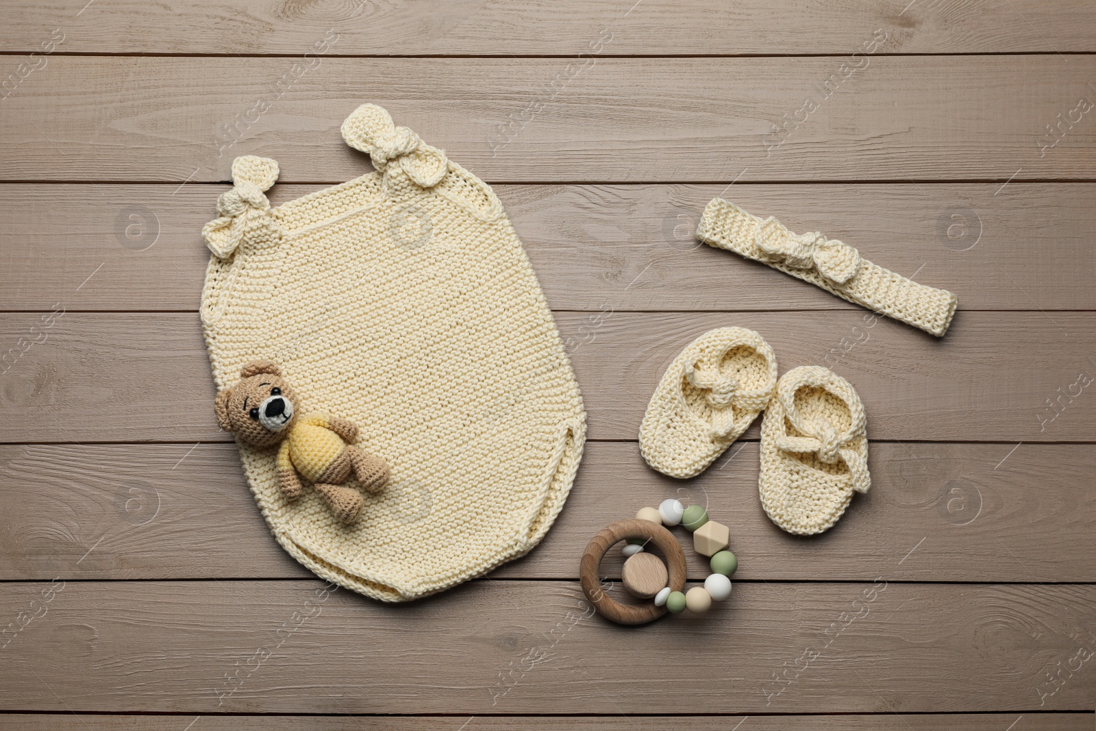
<svg viewBox="0 0 1096 731"><path fill-rule="evenodd" d="M853 418L848 429L837 432L824 419L803 419L795 403L796 390L802 386L822 387L841 398L848 407ZM868 464L861 453L852 446L854 441L864 438L867 416L864 413L864 404L848 381L829 372L826 377L819 379L812 378L796 384L781 381L780 388L777 390L777 398L784 407L787 420L802 436L781 434L776 437L776 446L785 452L797 454L814 453L826 465L835 465L841 458L848 467L849 477L853 479L853 489L857 492L867 492L868 488L871 487Z"/></svg>

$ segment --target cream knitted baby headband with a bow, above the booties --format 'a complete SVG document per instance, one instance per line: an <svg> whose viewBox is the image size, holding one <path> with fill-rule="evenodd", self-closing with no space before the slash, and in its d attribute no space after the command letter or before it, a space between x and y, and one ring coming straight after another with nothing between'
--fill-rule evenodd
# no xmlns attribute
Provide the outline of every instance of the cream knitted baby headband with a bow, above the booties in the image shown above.
<svg viewBox="0 0 1096 731"><path fill-rule="evenodd" d="M872 264L847 243L819 232L792 233L772 216L762 219L722 198L704 209L696 235L936 336L947 332L959 304L950 292Z"/></svg>

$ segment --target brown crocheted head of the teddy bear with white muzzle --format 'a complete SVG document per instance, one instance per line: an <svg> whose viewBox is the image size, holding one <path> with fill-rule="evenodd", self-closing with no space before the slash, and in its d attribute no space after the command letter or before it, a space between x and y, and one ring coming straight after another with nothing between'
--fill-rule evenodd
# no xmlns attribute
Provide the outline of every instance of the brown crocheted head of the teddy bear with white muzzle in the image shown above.
<svg viewBox="0 0 1096 731"><path fill-rule="evenodd" d="M254 361L240 370L240 382L217 393L217 423L248 444L267 447L288 433L296 418L297 397L270 361Z"/></svg>

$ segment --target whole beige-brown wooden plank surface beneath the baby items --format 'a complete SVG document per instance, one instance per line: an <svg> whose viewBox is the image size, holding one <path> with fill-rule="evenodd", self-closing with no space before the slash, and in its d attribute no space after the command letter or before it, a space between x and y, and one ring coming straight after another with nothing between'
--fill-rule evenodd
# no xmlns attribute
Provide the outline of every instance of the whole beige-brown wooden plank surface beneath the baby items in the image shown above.
<svg viewBox="0 0 1096 731"><path fill-rule="evenodd" d="M38 341L0 376L3 728L1093 728L1093 3L0 12L0 351ZM408 606L326 594L276 546L196 312L232 158L278 160L275 204L356 176L338 128L364 101L492 183L590 416L544 544ZM956 292L951 331L701 244L717 195ZM874 487L823 536L761 511L756 425L694 480L639 457L665 366L724 324L865 401ZM589 616L590 536L670 495L731 526L732 598Z"/></svg>

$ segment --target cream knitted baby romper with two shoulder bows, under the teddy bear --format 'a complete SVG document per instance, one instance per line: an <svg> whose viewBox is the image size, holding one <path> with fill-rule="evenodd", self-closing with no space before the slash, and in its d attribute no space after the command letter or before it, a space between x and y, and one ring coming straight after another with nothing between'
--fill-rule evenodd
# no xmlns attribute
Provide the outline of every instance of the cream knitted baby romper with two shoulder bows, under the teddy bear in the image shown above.
<svg viewBox="0 0 1096 731"><path fill-rule="evenodd" d="M240 444L278 542L317 574L389 602L482 574L537 545L585 438L579 386L536 275L490 186L388 113L342 126L376 172L272 208L277 163L232 165L203 233L214 380L274 361L310 412L353 421L391 478L343 525L288 501L275 450Z"/></svg>

